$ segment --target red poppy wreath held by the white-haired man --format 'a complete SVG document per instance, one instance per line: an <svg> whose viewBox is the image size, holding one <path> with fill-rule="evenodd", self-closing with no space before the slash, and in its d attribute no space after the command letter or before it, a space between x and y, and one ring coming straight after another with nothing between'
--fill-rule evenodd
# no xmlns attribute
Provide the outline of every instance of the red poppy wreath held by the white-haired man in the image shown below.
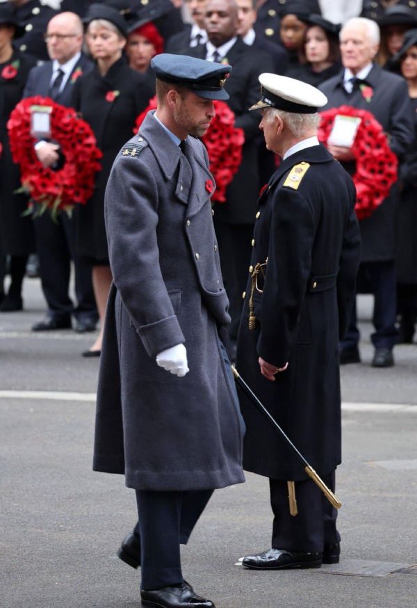
<svg viewBox="0 0 417 608"><path fill-rule="evenodd" d="M391 151L382 126L373 114L352 106L340 106L320 113L319 140L327 145L336 115L361 118L352 145L356 160L353 182L357 191L355 211L358 220L368 218L381 205L398 178L398 159Z"/></svg>

